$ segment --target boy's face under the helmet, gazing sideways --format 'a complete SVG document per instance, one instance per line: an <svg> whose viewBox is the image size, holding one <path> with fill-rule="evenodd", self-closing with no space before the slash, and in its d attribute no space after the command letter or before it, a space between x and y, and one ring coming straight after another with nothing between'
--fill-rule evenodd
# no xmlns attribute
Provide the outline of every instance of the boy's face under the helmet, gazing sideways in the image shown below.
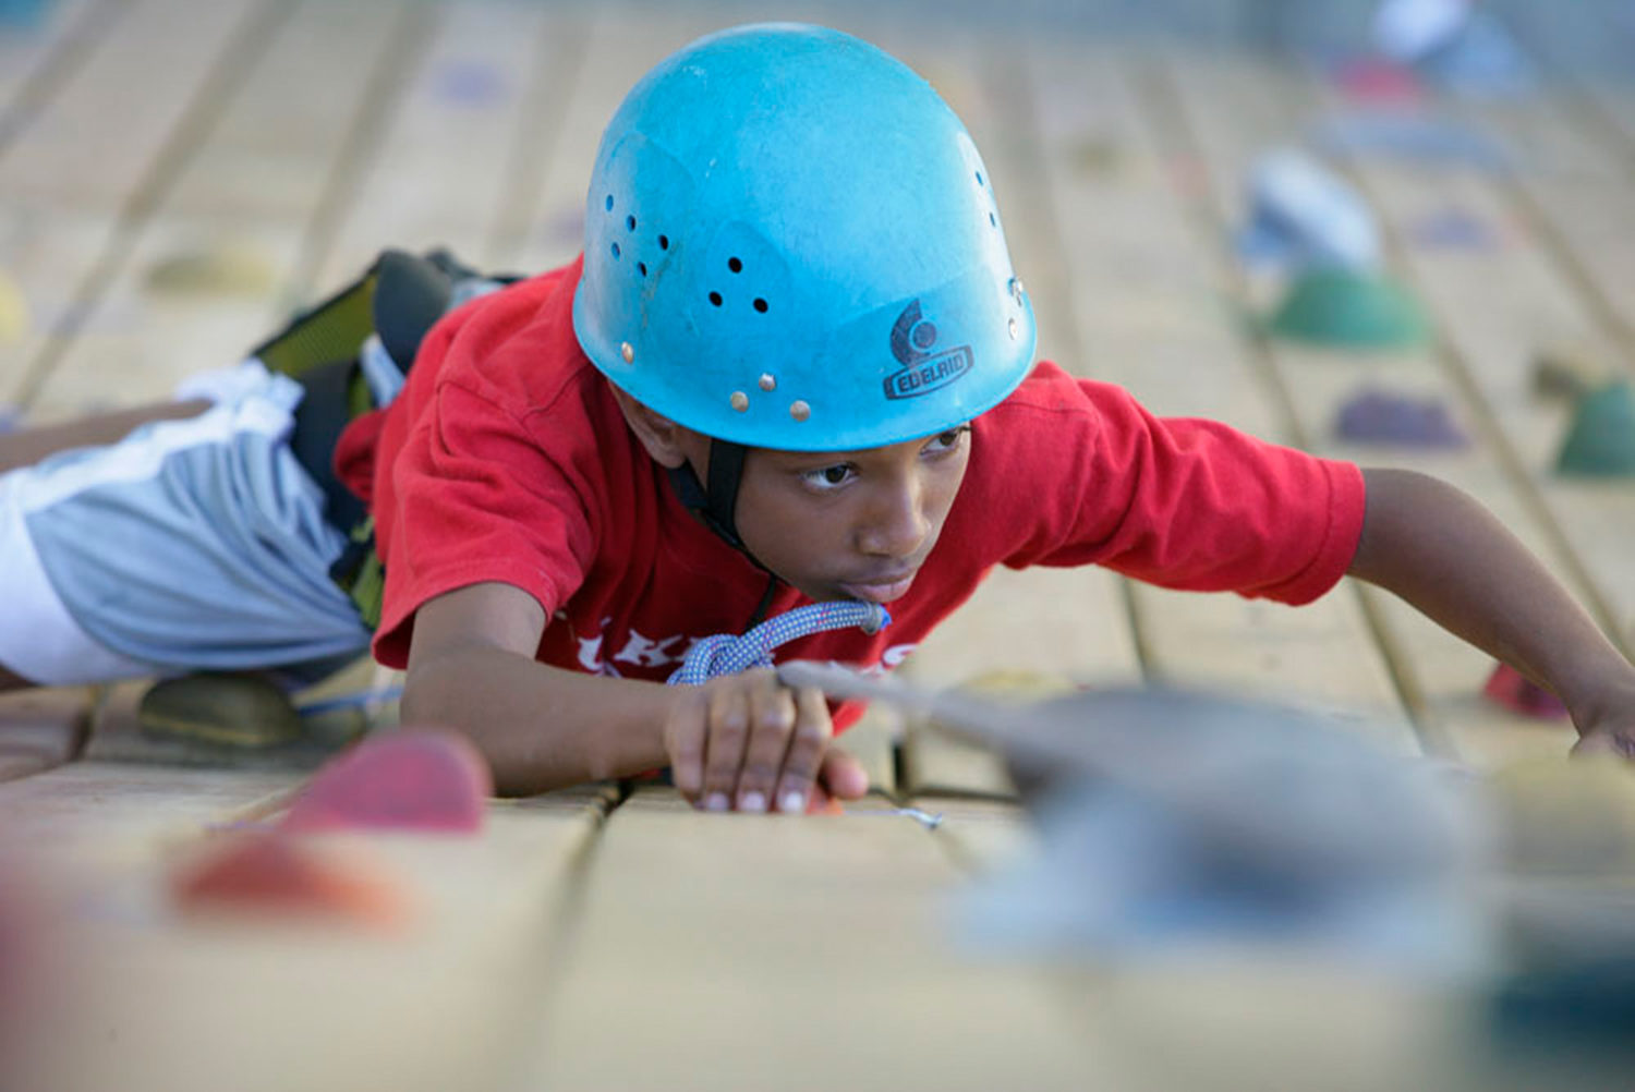
<svg viewBox="0 0 1635 1092"><path fill-rule="evenodd" d="M865 451L757 448L744 459L737 533L814 600L889 603L937 544L970 456L966 425Z"/></svg>

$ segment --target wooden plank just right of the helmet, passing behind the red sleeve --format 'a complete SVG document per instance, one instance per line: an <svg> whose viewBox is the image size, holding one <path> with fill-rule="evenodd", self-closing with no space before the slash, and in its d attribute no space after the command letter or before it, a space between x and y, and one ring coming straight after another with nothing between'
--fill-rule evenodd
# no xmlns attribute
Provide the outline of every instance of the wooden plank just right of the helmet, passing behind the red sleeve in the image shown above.
<svg viewBox="0 0 1635 1092"><path fill-rule="evenodd" d="M1162 185L1185 177L1185 165L1148 129L1113 54L1038 49L1028 69L1041 173L1094 374L1159 414L1297 441L1259 347L1220 304L1228 284L1218 252L1200 244L1185 206ZM1131 597L1154 677L1357 711L1383 745L1416 749L1354 597L1328 595L1298 611L1140 584Z"/></svg>

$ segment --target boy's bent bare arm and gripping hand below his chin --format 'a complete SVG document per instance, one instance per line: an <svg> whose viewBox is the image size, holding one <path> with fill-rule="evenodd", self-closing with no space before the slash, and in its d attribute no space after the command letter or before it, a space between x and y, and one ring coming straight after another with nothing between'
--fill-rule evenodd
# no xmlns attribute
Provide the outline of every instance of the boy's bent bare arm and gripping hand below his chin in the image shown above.
<svg viewBox="0 0 1635 1092"><path fill-rule="evenodd" d="M773 672L703 687L584 675L533 659L540 603L476 584L415 611L402 719L469 736L504 794L633 776L669 765L690 801L716 809L800 811L816 780L835 796L868 790L862 767L831 750L829 708Z"/></svg>

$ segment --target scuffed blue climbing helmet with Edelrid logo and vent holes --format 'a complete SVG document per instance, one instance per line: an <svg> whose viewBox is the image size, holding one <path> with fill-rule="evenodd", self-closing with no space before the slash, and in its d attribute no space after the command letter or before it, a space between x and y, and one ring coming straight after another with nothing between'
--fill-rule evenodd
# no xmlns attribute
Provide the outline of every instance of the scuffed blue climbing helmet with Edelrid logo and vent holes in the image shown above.
<svg viewBox="0 0 1635 1092"><path fill-rule="evenodd" d="M716 448L790 451L966 422L1035 340L955 113L875 46L795 23L703 38L625 98L590 177L574 330Z"/></svg>

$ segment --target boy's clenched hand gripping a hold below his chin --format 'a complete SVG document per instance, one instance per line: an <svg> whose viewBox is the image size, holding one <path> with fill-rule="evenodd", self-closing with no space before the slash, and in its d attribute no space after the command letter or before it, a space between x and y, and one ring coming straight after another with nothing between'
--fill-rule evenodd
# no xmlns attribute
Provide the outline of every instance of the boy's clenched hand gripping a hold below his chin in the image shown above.
<svg viewBox="0 0 1635 1092"><path fill-rule="evenodd" d="M834 796L857 799L868 778L829 750L832 737L822 691L791 690L772 669L687 688L664 726L675 788L708 811L801 814L819 778Z"/></svg>

